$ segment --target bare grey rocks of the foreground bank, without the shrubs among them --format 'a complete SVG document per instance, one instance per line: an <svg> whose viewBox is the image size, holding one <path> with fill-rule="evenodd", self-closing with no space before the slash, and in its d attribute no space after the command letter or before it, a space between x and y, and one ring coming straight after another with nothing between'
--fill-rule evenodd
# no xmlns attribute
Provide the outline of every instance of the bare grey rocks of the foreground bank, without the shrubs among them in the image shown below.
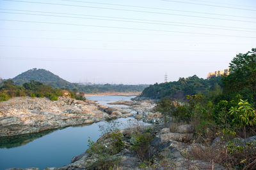
<svg viewBox="0 0 256 170"><path fill-rule="evenodd" d="M122 145L118 153L111 154L111 145L113 145L113 136L105 134L97 140L97 148L106 147L104 153L92 152L92 148L86 152L74 157L70 164L60 168L51 168L52 170L71 170L71 169L104 169L108 164L118 162L118 169L226 169L219 164L207 162L204 160L191 159L193 150L204 150L207 146L199 143L191 143L193 139L193 125L180 125L175 128L175 132L170 132L169 128L163 125L154 125L147 127L134 127L120 130L120 140ZM136 134L150 136L150 141L141 146L145 147L145 153L140 153L136 141ZM141 138L142 139L142 138ZM109 145L110 144L110 145ZM104 159L100 157L100 154ZM110 159L110 160L109 160ZM149 161L149 162L148 162ZM146 163L150 163L146 165Z"/></svg>

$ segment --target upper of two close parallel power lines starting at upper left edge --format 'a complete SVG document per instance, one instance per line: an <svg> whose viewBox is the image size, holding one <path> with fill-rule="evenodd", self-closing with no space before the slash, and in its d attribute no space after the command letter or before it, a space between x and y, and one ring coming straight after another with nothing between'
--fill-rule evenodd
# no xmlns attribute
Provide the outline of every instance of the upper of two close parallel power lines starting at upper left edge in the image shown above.
<svg viewBox="0 0 256 170"><path fill-rule="evenodd" d="M188 22L168 22L168 21L163 21L163 20L145 20L145 19L138 19L138 18L106 17L106 16L102 16L102 15L83 15L83 14L75 14L75 13L56 13L56 12L49 12L49 11L31 11L31 10L11 10L11 9L4 9L4 8L0 8L0 10L24 11L24 12L34 12L34 13L52 13L52 14L75 15L75 16L84 16L84 17L117 18L117 19L125 19L125 20L138 20L138 21L148 21L148 22L163 22L163 23L171 23L171 24L175 23L175 24L203 25L203 26L210 26L210 27L226 27L226 28L235 28L235 29L249 29L249 28L244 28L244 27L228 27L228 26L223 26L223 25L194 24L194 23L188 23ZM1 12L0 11L0 13L7 13L7 12ZM25 14L25 13L22 13L22 14ZM28 14L28 15L33 15L33 14ZM249 29L249 30L255 30L255 29Z"/></svg>

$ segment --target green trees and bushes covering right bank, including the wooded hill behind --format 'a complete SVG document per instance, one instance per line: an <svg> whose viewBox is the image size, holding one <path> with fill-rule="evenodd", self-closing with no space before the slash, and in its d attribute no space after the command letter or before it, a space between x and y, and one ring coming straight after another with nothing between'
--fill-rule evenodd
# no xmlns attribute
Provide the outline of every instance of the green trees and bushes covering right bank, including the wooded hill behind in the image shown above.
<svg viewBox="0 0 256 170"><path fill-rule="evenodd" d="M256 134L256 50L239 53L230 62L230 74L202 80L196 76L155 84L141 96L161 99L157 108L176 122L195 125L195 142L211 145L219 137L226 145L196 150L196 159L216 162L228 169L255 169L256 143L246 138ZM171 99L182 90L186 102ZM174 96L174 97L173 97ZM164 119L167 121L168 119ZM232 140L237 137L238 141ZM241 143L243 141L243 143Z"/></svg>

